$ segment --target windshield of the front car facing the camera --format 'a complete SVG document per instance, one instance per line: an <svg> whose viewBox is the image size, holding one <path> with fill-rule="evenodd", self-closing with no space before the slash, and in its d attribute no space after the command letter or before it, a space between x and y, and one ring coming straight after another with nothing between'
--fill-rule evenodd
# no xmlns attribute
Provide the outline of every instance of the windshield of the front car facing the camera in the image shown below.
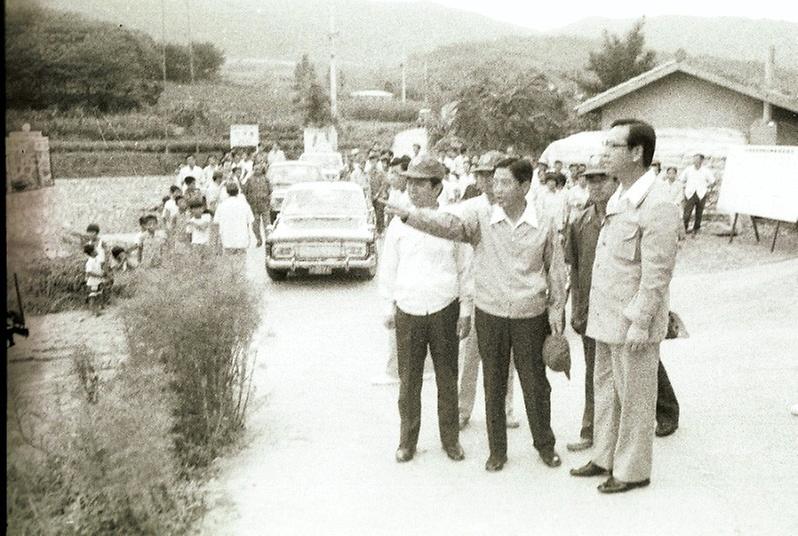
<svg viewBox="0 0 798 536"><path fill-rule="evenodd" d="M283 218L365 218L366 199L362 192L331 188L302 188L286 193Z"/></svg>

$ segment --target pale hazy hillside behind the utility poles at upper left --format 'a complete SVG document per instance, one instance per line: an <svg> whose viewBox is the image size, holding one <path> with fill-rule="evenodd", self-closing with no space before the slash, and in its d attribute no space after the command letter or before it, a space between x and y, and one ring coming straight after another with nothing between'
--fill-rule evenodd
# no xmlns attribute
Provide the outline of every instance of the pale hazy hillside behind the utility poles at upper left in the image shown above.
<svg viewBox="0 0 798 536"><path fill-rule="evenodd" d="M161 0L42 0L58 9L127 24L161 36ZM190 0L195 41L212 41L229 58L297 60L329 57L328 3L321 0ZM341 62L398 63L403 50L423 52L466 40L481 41L532 30L429 2L336 0ZM165 2L167 40L188 40L184 1Z"/></svg>

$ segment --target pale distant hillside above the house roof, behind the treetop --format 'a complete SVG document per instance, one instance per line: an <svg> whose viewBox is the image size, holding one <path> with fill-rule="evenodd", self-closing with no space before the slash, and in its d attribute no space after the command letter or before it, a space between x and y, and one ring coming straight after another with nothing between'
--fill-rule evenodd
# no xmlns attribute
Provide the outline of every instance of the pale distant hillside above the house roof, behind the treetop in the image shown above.
<svg viewBox="0 0 798 536"><path fill-rule="evenodd" d="M623 34L634 19L591 17L552 32L554 35L601 39L603 29ZM768 46L776 47L776 64L798 70L798 24L735 17L660 16L646 18L646 43L653 49L715 56L730 60L764 61Z"/></svg>

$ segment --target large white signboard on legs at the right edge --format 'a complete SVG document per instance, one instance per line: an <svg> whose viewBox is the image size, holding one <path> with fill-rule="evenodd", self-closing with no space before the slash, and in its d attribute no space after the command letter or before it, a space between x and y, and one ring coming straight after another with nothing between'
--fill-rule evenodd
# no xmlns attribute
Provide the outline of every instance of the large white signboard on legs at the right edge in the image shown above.
<svg viewBox="0 0 798 536"><path fill-rule="evenodd" d="M798 147L747 145L729 152L718 210L798 222Z"/></svg>

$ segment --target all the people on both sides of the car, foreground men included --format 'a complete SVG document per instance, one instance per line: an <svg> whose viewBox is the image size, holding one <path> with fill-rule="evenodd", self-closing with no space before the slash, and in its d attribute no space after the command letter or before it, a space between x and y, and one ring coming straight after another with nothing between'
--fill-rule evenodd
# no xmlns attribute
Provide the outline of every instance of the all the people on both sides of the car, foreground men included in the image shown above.
<svg viewBox="0 0 798 536"><path fill-rule="evenodd" d="M648 485L653 436L672 434L679 419L659 357L677 242L693 210L694 232L700 229L714 182L702 155L681 174L663 172L652 161L655 143L649 125L630 120L610 129L603 169L555 161L549 170L512 147L478 158L465 149L433 157L418 145L401 157L376 145L348 155L342 179L363 186L384 235L379 280L392 330L387 371L400 385L397 461L416 452L429 357L451 459L465 456L459 432L469 424L481 363L486 470L503 468L506 429L520 426L513 369L534 448L546 465L559 466L543 348L564 331L570 292L586 375L580 438L567 447L595 447L571 474L607 476L599 486L605 493ZM89 225L83 251L95 312L114 274L158 267L167 255L240 257L251 233L261 246L266 171L284 159L276 144L209 156L204 167L187 156L159 213L140 218L136 244L111 248L108 260L99 226Z"/></svg>

